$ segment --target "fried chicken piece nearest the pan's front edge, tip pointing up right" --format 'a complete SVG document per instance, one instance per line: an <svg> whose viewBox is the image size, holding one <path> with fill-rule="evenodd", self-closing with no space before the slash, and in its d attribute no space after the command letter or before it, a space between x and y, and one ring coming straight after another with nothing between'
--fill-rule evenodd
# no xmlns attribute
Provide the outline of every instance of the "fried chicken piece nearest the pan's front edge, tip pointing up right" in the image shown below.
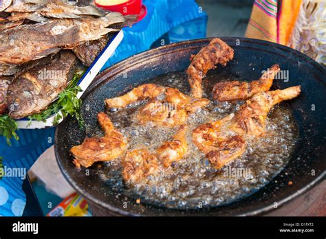
<svg viewBox="0 0 326 239"><path fill-rule="evenodd" d="M182 125L172 141L167 141L154 152L136 149L122 158L122 177L127 184L135 184L160 170L171 166L173 161L184 157L187 150L186 126Z"/></svg>

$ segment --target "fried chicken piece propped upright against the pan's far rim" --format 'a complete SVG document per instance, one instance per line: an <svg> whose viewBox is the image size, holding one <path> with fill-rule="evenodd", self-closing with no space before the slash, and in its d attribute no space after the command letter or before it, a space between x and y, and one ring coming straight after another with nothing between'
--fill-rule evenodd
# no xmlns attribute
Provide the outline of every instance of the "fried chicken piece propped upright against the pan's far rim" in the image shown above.
<svg viewBox="0 0 326 239"><path fill-rule="evenodd" d="M191 60L188 67L188 82L191 85L191 96L202 98L202 79L208 70L213 69L218 63L225 66L233 58L233 49L219 38L214 38L202 48Z"/></svg>

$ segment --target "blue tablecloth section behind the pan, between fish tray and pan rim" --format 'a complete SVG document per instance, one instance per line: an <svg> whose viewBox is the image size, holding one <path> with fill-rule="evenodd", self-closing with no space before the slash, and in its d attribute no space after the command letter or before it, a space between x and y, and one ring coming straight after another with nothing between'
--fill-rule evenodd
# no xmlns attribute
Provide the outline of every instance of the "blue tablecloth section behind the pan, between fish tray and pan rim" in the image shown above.
<svg viewBox="0 0 326 239"><path fill-rule="evenodd" d="M207 15L195 1L144 0L144 4L147 15L140 23L124 28L122 42L103 69L129 56L146 51L166 32L169 33L170 43L206 36Z"/></svg>

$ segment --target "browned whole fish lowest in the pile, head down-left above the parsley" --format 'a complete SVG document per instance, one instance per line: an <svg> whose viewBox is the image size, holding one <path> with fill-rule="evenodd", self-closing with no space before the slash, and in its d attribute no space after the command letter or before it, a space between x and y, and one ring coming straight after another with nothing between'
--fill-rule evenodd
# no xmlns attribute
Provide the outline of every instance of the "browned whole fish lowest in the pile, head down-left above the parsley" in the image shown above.
<svg viewBox="0 0 326 239"><path fill-rule="evenodd" d="M8 87L9 116L19 119L40 113L65 89L76 69L77 58L68 50L43 67L25 71Z"/></svg>

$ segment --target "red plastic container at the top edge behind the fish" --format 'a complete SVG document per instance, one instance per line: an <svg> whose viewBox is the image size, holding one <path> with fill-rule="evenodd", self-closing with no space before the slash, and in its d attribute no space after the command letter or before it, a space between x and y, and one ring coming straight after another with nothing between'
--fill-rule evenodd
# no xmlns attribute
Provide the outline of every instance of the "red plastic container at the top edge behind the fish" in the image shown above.
<svg viewBox="0 0 326 239"><path fill-rule="evenodd" d="M142 8L142 0L129 0L126 3L121 3L118 5L100 5L95 0L95 5L111 12L120 12L122 15L138 15L140 14L140 9Z"/></svg>

